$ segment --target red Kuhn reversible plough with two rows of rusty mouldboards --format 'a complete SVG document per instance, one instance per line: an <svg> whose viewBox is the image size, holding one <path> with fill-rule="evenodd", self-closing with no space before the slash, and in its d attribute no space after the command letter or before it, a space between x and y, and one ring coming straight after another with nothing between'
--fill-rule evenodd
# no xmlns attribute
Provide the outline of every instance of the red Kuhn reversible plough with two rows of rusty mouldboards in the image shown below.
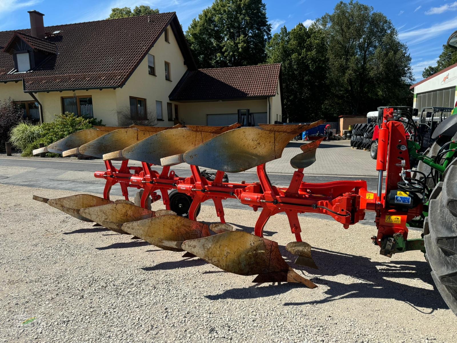
<svg viewBox="0 0 457 343"><path fill-rule="evenodd" d="M327 214L347 229L363 220L367 210L374 211L377 235L372 241L382 255L425 250L423 239L408 239L407 223L421 216L427 189L414 188L416 183L407 176L411 172L411 145L401 119L405 111L384 108L380 116L383 123L379 130L376 193L367 191L363 180L303 181L303 169L315 161L322 139L302 145L302 152L292 158L291 165L297 170L287 188L271 184L266 162L280 158L289 141L322 123L317 121L308 125L239 127L237 123L227 127L130 126L78 131L34 154L49 151L103 158L106 171L95 172L95 177L105 180L103 198L87 194L34 198L75 218L131 234L159 248L195 255L225 271L258 275L255 282L298 282L314 288L313 282L287 265L276 242L263 238L263 228L272 215L287 215L295 240L286 249L297 256L296 264L308 267L317 268L310 245L302 241L298 214L303 213ZM141 166L129 166L130 160L140 161ZM121 166L116 168L112 161L122 161ZM183 162L190 165L190 177L178 177L171 170ZM206 177L200 167L216 172ZM256 168L258 182L234 183L226 179L226 172L250 168ZM112 202L110 191L117 183L125 200ZM129 201L129 188L137 194L134 204ZM181 200L176 201L172 194L180 195ZM261 210L254 235L225 224L223 200L228 198L254 211ZM165 209L151 211L150 203L160 199ZM197 221L200 205L207 200L213 201L219 218L219 223L209 226Z"/></svg>

